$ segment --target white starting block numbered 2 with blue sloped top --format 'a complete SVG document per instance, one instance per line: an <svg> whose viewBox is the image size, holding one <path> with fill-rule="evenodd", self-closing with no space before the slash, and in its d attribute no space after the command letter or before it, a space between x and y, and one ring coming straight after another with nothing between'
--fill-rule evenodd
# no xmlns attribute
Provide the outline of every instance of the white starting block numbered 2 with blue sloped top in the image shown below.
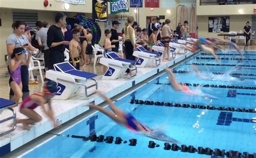
<svg viewBox="0 0 256 158"><path fill-rule="evenodd" d="M62 62L53 65L54 69L46 71L46 78L58 83L57 94L55 99L65 100L78 94L84 88L85 96L89 97L95 92L89 94L88 90L95 87L98 89L98 83L95 80L97 75L80 71L74 68L69 62ZM87 85L86 82L90 80L92 84Z"/></svg>

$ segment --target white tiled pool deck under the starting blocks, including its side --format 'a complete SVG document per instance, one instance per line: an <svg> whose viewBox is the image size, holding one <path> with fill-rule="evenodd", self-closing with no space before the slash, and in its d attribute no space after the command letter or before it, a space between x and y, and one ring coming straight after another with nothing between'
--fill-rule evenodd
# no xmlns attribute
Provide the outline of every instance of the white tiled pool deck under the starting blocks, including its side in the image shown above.
<svg viewBox="0 0 256 158"><path fill-rule="evenodd" d="M121 78L118 78L118 80L102 80L102 76L97 76L96 80L98 82L98 89L107 97L112 98L147 78L156 75L160 71L163 71L163 67L170 67L181 60L189 58L191 55L193 55L193 53L186 53L183 55L177 54L175 59L170 62L161 62L160 66L157 67L153 67L152 62L152 67L150 68L138 68L137 75L134 77L123 75ZM87 84L90 84L90 81L88 81ZM92 92L92 90L89 90L89 92ZM100 98L98 95L85 97L83 90L77 96L67 100L53 99L52 107L55 112L56 120L58 120L59 125L61 125L88 111L89 107L86 106L88 103L95 102L95 104L100 104L104 101L105 100ZM19 112L19 107L15 107L14 110L17 112L17 118L26 118ZM54 128L52 126L52 121L46 116L42 108L36 108L35 111L41 114L43 119L39 123L30 126L30 131L23 130L22 124L18 124L15 131L0 137L0 156L25 145L25 143L36 139ZM12 113L9 110L4 110L1 114L1 118L7 118L11 116L11 114ZM10 124L11 121L1 124L0 132L10 129Z"/></svg>

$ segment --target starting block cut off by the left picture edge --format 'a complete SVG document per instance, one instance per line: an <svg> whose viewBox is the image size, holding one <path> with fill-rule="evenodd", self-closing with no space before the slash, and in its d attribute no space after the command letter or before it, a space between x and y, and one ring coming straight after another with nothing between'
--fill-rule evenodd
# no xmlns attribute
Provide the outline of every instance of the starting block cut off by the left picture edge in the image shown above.
<svg viewBox="0 0 256 158"><path fill-rule="evenodd" d="M4 99L4 98L0 98L0 115L2 114L2 112L4 111L4 109L8 109L8 110L11 110L12 111L12 116L8 117L8 118L5 118L5 119L2 119L0 120L0 124L8 121L8 120L11 120L13 119L14 120L14 125L13 127L10 129L10 130L6 130L6 131L3 131L3 132L0 132L0 137L2 137L3 135L5 134L8 134L12 131L14 131L16 129L16 124L17 124L17 119L16 119L16 112L14 109L12 109L10 106L12 105L15 105L16 103L14 101L11 101L11 100L7 100L7 99ZM1 116L1 118L3 118L3 116ZM2 127L1 127L2 128ZM1 130L2 131L2 130Z"/></svg>

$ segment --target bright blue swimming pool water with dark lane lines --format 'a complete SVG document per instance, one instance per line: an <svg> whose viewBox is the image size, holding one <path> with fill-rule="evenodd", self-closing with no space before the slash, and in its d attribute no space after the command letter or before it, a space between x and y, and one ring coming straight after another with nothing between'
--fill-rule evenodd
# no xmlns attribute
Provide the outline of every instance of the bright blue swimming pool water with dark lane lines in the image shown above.
<svg viewBox="0 0 256 158"><path fill-rule="evenodd" d="M209 94L218 99L206 99L203 97L185 95L174 91L169 85L167 74L163 74L142 87L116 100L115 104L126 112L133 114L142 123L149 127L159 127L172 138L179 141L178 146L192 145L195 148L211 148L214 150L225 149L237 150L239 152L254 153L256 151L256 123L252 118L255 113L248 109L255 109L255 82L256 67L253 55L255 52L245 52L245 58L241 61L240 56L232 55L233 52L225 52L228 55L219 55L220 58L232 58L237 60L221 60L217 64L210 55L200 54L180 64L174 69L178 82L186 83L191 89L197 84ZM249 55L246 55L249 54ZM236 82L201 80L191 68L192 63L199 63L200 70L210 70L214 73L224 73L234 66L243 65L232 71L234 77L239 77ZM203 64L204 65L203 65ZM211 64L211 65L205 65ZM250 65L246 67L244 65ZM250 68L250 69L248 69ZM207 84L209 85L207 87ZM216 86L215 86L216 85ZM223 87L223 86L226 87ZM227 88L228 87L228 88ZM143 100L144 102L172 103L173 106L156 106L131 103L131 99ZM175 104L176 103L176 104ZM197 108L186 108L184 104L203 105ZM208 106L210 105L210 106ZM176 106L176 107L175 107ZM179 107L181 106L181 107ZM182 107L183 106L183 107ZM204 109L204 107L209 107ZM231 110L211 110L211 107L229 107ZM244 112L233 111L239 108ZM109 107L106 107L109 110ZM201 108L201 109L200 109ZM247 111L245 111L245 110ZM187 153L172 150L164 150L164 142L153 140L143 135L130 132L125 127L119 126L102 113L94 113L86 117L76 125L64 131L62 135L84 135L90 134L120 137L127 143L120 145L106 142L83 141L78 138L56 136L43 145L33 149L23 157L209 157L209 155ZM137 139L136 146L129 146L130 139ZM153 140L160 147L149 148L149 141Z"/></svg>

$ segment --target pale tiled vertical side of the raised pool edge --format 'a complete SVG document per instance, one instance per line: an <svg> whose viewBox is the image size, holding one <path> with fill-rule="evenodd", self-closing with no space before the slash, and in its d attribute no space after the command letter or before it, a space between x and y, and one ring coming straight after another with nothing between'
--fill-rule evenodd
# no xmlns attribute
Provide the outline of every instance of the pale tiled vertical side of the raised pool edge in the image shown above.
<svg viewBox="0 0 256 158"><path fill-rule="evenodd" d="M163 67L170 67L173 64L175 64L181 60L190 58L192 55L193 55L193 53L187 53L185 55L180 56L179 58L177 58L175 60L172 60L172 61L166 62L166 63L162 63L158 67L150 68L150 71L147 72L146 74L138 75L133 78L130 78L129 81L126 81L122 85L119 85L119 87L117 87L115 90L109 90L105 94L106 94L106 96L112 98L112 97L120 94L120 92L123 92L123 91L133 87L134 85L146 80L147 78L149 78L153 75L156 75L160 71L163 71ZM102 80L100 80L100 81L102 81ZM74 98L71 98L71 99L74 99ZM63 111L62 113L58 114L58 116L56 116L56 119L62 121L62 123L66 123L67 121L71 120L72 118L75 118L75 117L79 116L80 114L89 110L89 107L87 107L85 105L87 103L90 103L93 101L95 101L95 104L100 104L100 103L104 102L104 100L102 98L100 98L96 95L93 95L89 98L86 98L86 100L84 100L84 103L76 105L76 106L72 105L73 107L71 109L69 109L67 111ZM4 137L5 139L2 139L0 141L0 156L2 156L2 154L5 155L5 154L17 149L18 147L25 145L25 143L28 143L31 140L33 140L51 130L53 130L51 121L45 120L43 123L39 123L39 124L33 126L30 131L22 131L21 133L19 133L17 135L12 135L10 137Z"/></svg>

